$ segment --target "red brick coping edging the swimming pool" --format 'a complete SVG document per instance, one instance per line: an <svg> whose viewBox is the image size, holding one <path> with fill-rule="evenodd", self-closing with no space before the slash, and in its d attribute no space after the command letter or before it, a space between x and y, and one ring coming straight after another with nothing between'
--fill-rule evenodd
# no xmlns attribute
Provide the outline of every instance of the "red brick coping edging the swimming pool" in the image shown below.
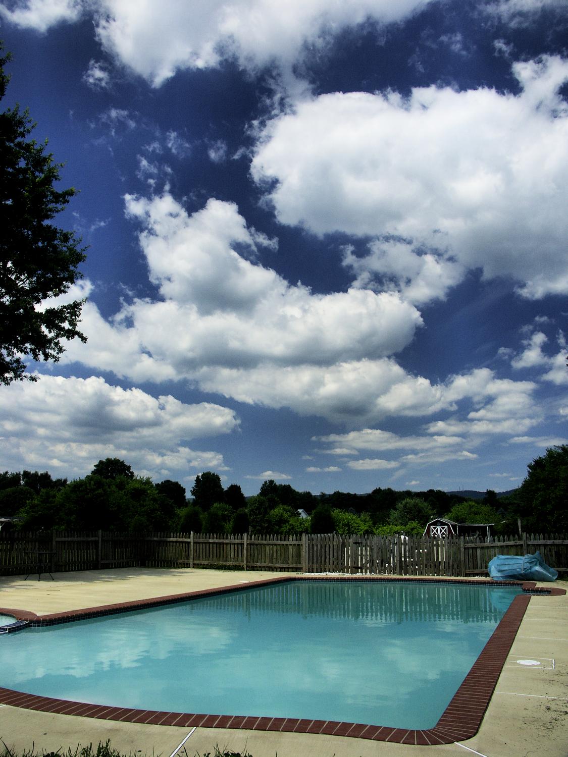
<svg viewBox="0 0 568 757"><path fill-rule="evenodd" d="M86 609L70 610L68 612L54 612L48 615L36 615L20 609L0 608L0 613L13 615L18 621L27 621L29 625L47 626L68 623L70 621L98 618L104 615L114 615L119 612L130 612L161 605L186 602L198 597L211 597L233 591L242 591L251 587L278 584L283 581L407 581L411 583L430 583L445 581L458 584L480 584L495 586L494 581L484 579L454 579L444 577L403 577L390 578L387 576L282 576L282 578L267 578L262 581L251 581L248 584L216 589L205 589L183 594L171 594L167 597L135 600L133 602L117 603L89 607ZM434 727L423 731L407 730L363 723L345 723L340 721L310 720L298 718L266 718L245 715L198 715L184 712L157 712L155 710L141 710L127 707L111 707L105 705L86 704L85 702L70 702L66 699L55 699L50 696L36 696L0 687L0 703L24 709L51 712L58 715L80 715L86 718L101 720L123 721L128 723L143 723L154 725L175 725L176 727L201 728L236 728L245 731L280 731L295 734L325 734L326 736L347 736L373 741L388 741L399 744L448 744L463 741L475 736L479 730L483 715L492 697L501 669L507 659L510 647L523 620L532 593L541 596L559 597L566 594L566 590L551 587L550 589L536 589L533 581L499 581L501 586L517 586L529 592L514 597L509 609L505 612L492 636L485 644L476 662L467 676L463 679L442 717Z"/></svg>

